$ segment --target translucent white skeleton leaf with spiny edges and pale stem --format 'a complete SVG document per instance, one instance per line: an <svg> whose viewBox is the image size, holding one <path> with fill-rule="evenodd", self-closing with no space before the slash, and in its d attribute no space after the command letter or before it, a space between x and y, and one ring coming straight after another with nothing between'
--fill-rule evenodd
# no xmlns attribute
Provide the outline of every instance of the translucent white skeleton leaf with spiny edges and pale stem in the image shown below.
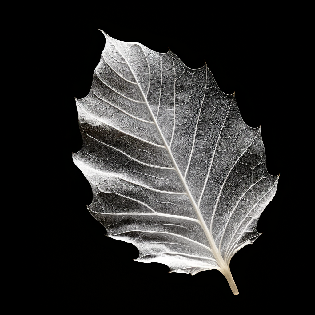
<svg viewBox="0 0 315 315"><path fill-rule="evenodd" d="M243 122L207 65L104 35L91 90L76 99L83 147L73 160L92 186L90 213L137 247L136 261L218 269L238 294L231 258L260 235L278 183L260 127Z"/></svg>

